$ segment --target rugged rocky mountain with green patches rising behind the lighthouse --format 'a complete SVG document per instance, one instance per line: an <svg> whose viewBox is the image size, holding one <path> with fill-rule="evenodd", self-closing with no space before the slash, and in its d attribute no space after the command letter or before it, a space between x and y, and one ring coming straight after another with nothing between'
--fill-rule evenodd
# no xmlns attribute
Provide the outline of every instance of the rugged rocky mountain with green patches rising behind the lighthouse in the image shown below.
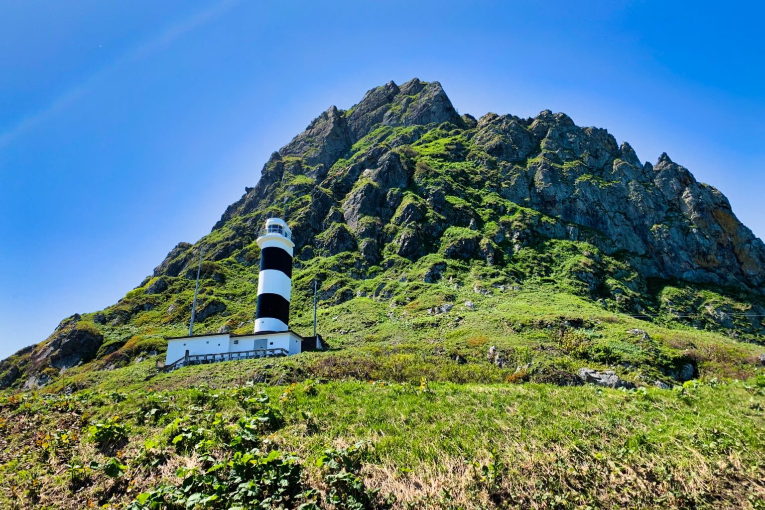
<svg viewBox="0 0 765 510"><path fill-rule="evenodd" d="M294 232L298 326L317 278L323 306L344 305L372 328L366 336L404 316L425 317L415 330L443 331L444 319L428 317L461 299L455 289L496 303L566 294L654 323L754 343L765 335L765 245L714 187L667 154L643 163L627 142L565 113L476 119L459 115L438 82L414 79L331 106L271 155L209 235L179 243L118 304L70 317L2 362L0 386L161 352L163 335L187 327L200 245L198 327L249 330L255 239L269 216ZM346 330L339 317L327 333L363 342L363 327Z"/></svg>

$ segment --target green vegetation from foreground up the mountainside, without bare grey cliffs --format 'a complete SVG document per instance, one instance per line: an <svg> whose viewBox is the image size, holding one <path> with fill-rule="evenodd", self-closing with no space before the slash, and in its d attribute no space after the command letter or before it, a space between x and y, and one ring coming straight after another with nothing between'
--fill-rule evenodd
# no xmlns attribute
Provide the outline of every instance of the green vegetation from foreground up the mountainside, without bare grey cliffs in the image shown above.
<svg viewBox="0 0 765 510"><path fill-rule="evenodd" d="M291 326L310 331L317 278L319 331L329 352L158 375L153 356L164 357L164 336L185 333L193 296L196 261L178 255L183 268L160 277L163 291L148 294L158 281L148 278L103 314L65 323L62 331L103 336L95 359L63 373L42 369L50 382L40 393L0 394L0 506L137 509L164 499L191 508L194 499L187 499L197 494L201 508L202 495L217 492L211 508L241 506L238 498L255 505L265 495L272 506L282 499L304 510L312 501L326 507L334 495L338 508L373 508L386 506L391 492L397 508L763 508L763 390L755 383L763 382L755 362L763 352L761 323L742 314L763 306L762 298L644 281L624 254L598 250L601 235L584 227L580 241L551 239L568 224L496 193L499 184L513 186L523 163L500 168L472 144L470 130L379 128L330 175L343 177L370 149L414 131L421 138L396 148L415 171L390 222L379 224L386 239L379 265L353 250L333 255L321 247L347 232L343 223L317 234L306 260L298 254ZM259 260L252 225L277 215L295 232L313 227L315 184L301 174L301 158L283 163L269 200L195 245L207 253L200 309L226 305L198 320L197 333L252 329ZM562 175L571 164L578 163L558 165ZM354 189L365 184L362 178ZM433 187L444 190L441 213L423 198ZM402 224L407 206L422 219ZM378 221L360 218L372 230ZM412 261L396 255L405 235L422 241ZM213 261L218 250L228 255ZM730 323L719 319L729 312L736 314ZM499 348L503 366L487 361L490 346ZM0 376L14 365L37 368L30 360L31 352L12 356ZM704 385L654 388L656 381L677 384L672 374L688 363ZM641 388L545 384L565 382L582 366L614 369ZM24 380L15 382L17 391ZM270 404L257 401L259 389ZM270 408L283 421L272 420ZM125 437L97 444L99 434L123 428ZM347 450L357 440L371 446ZM255 448L256 462L243 463L243 450ZM327 448L339 450L316 466ZM216 460L229 463L216 467ZM337 460L350 474L338 472ZM241 472L255 481L252 494L240 491ZM379 495L366 493L356 477ZM187 492L177 489L183 479ZM278 479L291 489L275 486ZM140 493L147 494L142 505L132 502Z"/></svg>

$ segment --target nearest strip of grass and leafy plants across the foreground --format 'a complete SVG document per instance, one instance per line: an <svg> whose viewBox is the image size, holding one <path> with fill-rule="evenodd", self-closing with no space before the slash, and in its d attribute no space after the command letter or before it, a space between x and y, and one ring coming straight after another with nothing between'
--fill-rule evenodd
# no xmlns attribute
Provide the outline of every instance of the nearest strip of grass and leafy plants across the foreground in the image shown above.
<svg viewBox="0 0 765 510"><path fill-rule="evenodd" d="M242 446L235 438L244 435L237 421L252 416L283 419L259 422L247 449L274 450L277 458L295 453L299 473L293 482L301 492L313 488L324 495L324 503L315 494L293 496L285 499L288 507L317 497L326 505L332 489L344 494L340 508L352 508L346 505L353 501L361 502L358 508L386 502L396 508L765 504L765 390L744 382L629 392L422 382L147 390L155 382L163 381L119 392L0 401L2 508L124 508L141 493L165 501L195 492L209 496L215 490L203 482L206 470L223 481L210 508L229 508L226 498L239 490L230 482L236 465L211 468L236 462ZM256 402L260 389L269 403ZM113 416L125 440L99 447L88 424ZM357 441L369 442L365 452L343 453ZM327 448L357 457L360 466L351 472L379 494L367 500L363 492L338 485L331 466L317 467ZM112 458L122 466L112 473L116 478L103 468ZM161 462L151 466L156 459ZM93 461L101 467L77 467ZM197 470L178 472L180 467ZM173 492L184 478L190 492ZM266 479L256 482L267 489ZM163 484L161 496L156 489ZM150 501L132 508L151 508Z"/></svg>

